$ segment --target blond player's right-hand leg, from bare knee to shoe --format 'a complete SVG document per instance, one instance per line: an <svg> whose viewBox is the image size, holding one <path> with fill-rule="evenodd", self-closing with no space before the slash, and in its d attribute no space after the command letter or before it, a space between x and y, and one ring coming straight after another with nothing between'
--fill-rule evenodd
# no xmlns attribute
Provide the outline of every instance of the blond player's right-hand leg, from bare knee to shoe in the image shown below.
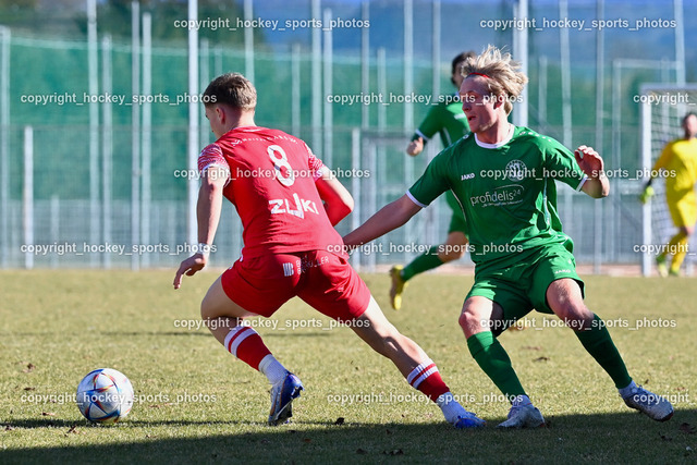
<svg viewBox="0 0 697 465"><path fill-rule="evenodd" d="M586 351L610 375L627 406L657 421L667 421L673 416L670 402L632 380L608 328L584 305L576 281L564 278L552 282L547 290L547 302L554 314L574 329Z"/></svg>

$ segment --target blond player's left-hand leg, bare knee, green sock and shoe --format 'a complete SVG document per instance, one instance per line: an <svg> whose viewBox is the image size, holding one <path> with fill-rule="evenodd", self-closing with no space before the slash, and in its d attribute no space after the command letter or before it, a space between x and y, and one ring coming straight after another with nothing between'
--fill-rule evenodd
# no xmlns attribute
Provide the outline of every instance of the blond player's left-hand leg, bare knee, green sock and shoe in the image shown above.
<svg viewBox="0 0 697 465"><path fill-rule="evenodd" d="M500 332L503 329L501 306L482 296L468 297L460 316L460 326L477 365L511 401L508 419L497 427L517 429L545 425L542 414L533 405L513 370L509 354L490 330L493 328Z"/></svg>

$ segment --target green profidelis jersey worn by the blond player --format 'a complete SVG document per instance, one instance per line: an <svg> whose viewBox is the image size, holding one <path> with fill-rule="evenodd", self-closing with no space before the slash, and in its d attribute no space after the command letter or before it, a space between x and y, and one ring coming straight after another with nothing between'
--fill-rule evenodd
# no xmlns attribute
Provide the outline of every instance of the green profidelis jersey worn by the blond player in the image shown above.
<svg viewBox="0 0 697 465"><path fill-rule="evenodd" d="M549 244L571 250L557 213L554 180L578 191L586 179L559 142L514 127L500 144L466 135L429 163L407 195L426 207L452 191L467 220L472 259L479 265Z"/></svg>

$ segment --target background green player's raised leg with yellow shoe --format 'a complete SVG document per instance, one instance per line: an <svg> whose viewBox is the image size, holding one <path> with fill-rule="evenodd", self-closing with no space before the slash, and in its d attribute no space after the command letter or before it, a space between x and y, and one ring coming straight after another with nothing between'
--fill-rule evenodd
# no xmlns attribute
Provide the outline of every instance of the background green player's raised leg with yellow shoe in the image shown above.
<svg viewBox="0 0 697 465"><path fill-rule="evenodd" d="M462 258L467 245L467 236L460 232L453 231L448 234L445 244L438 247L429 247L424 254L416 257L406 267L394 266L390 269L390 305L395 310L402 308L402 293L406 287L407 281L416 274L420 274L428 270L440 267L449 261Z"/></svg>

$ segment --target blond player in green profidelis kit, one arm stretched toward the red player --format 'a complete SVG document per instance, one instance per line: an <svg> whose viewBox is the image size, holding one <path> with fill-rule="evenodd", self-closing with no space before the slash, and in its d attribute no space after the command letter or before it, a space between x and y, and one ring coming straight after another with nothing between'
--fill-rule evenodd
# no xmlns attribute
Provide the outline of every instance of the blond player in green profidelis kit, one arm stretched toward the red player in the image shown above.
<svg viewBox="0 0 697 465"><path fill-rule="evenodd" d="M580 146L572 154L557 140L509 123L512 101L527 77L509 53L489 46L467 60L460 88L472 135L440 152L406 195L344 237L348 246L401 227L452 189L463 205L474 252L475 284L460 326L479 367L511 401L501 428L545 423L497 336L533 308L555 314L610 375L625 404L665 421L673 407L629 377L606 325L584 304L572 240L557 215L555 181L590 197L610 192L602 158Z"/></svg>

